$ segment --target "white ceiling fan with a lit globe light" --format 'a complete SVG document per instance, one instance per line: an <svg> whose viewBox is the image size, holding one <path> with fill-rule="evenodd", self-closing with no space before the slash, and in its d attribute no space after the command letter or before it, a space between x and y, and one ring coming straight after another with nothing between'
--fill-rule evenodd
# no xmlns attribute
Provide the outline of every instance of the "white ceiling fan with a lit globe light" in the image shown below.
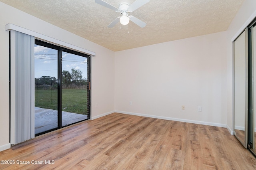
<svg viewBox="0 0 256 170"><path fill-rule="evenodd" d="M136 0L134 3L132 3L131 5L127 4L127 3L121 3L118 8L116 8L115 6L112 6L110 4L108 4L107 2L104 2L103 0L95 0L95 2L97 4L100 4L102 6L105 6L107 8L110 8L111 10L114 10L116 12L119 12L122 14L122 16L118 16L113 22L111 22L108 25L108 28L112 28L114 27L118 21L120 21L120 23L122 25L127 25L129 24L129 21L131 20L132 22L134 22L135 24L137 24L138 26L140 26L141 28L144 28L146 26L146 23L143 22L142 20L139 20L138 18L134 17L134 16L128 16L129 13L133 12L134 10L140 8L141 6L143 6L144 4L148 3L149 0Z"/></svg>

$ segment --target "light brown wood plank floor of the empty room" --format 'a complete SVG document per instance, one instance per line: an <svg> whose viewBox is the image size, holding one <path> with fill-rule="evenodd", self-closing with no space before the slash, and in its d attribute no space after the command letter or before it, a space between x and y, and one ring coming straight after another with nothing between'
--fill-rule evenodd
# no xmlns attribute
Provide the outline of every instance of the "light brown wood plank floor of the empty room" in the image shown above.
<svg viewBox="0 0 256 170"><path fill-rule="evenodd" d="M120 113L17 144L0 152L0 160L15 161L0 169L256 169L254 156L226 128Z"/></svg>

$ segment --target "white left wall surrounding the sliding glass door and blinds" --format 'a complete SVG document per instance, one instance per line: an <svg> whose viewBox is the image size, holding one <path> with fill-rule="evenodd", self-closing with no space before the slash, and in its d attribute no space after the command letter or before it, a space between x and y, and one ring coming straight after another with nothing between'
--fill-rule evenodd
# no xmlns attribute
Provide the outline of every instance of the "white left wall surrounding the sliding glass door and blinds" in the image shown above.
<svg viewBox="0 0 256 170"><path fill-rule="evenodd" d="M96 52L91 57L91 116L99 117L114 111L114 52L96 43L76 36L52 24L28 15L0 2L0 151L10 147L9 143L9 36L6 24L44 34L84 49ZM95 107L97 103L98 107Z"/></svg>

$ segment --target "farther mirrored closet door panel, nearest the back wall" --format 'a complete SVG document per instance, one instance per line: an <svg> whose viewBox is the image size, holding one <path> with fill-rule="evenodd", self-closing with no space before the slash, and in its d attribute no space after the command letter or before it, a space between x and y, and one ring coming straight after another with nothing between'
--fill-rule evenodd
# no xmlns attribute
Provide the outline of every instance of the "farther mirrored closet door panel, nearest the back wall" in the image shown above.
<svg viewBox="0 0 256 170"><path fill-rule="evenodd" d="M234 41L234 135L247 148L248 79L246 32Z"/></svg>

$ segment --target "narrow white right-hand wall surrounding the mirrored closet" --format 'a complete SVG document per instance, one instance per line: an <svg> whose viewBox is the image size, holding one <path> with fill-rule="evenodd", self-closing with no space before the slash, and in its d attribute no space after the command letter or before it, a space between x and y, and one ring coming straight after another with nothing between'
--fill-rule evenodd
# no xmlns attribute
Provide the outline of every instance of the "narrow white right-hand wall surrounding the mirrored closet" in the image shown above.
<svg viewBox="0 0 256 170"><path fill-rule="evenodd" d="M235 18L232 20L228 30L227 30L227 83L226 83L226 94L227 94L227 127L232 132L234 129L234 117L233 117L233 87L232 87L232 38L238 36L238 33L242 32L252 17L256 14L256 0L245 0L244 4L236 14Z"/></svg>

